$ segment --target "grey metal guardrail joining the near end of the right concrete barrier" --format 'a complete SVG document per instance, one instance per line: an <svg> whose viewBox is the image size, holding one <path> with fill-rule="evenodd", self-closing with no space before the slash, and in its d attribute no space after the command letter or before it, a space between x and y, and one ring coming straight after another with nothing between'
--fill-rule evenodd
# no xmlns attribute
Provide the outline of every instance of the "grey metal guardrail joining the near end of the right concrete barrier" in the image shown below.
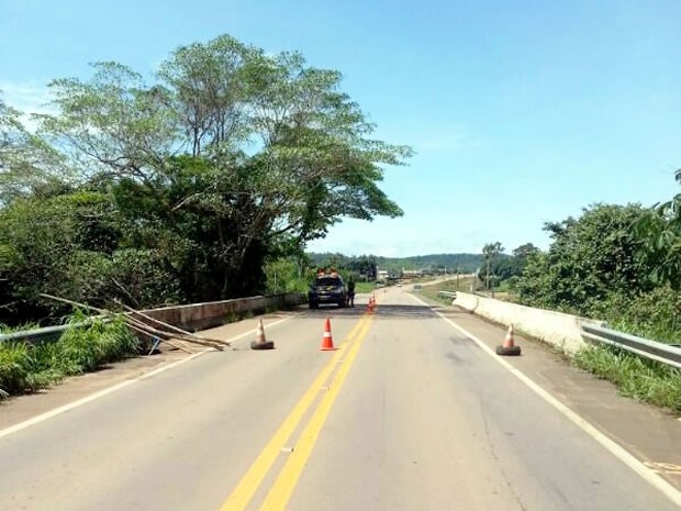
<svg viewBox="0 0 681 511"><path fill-rule="evenodd" d="M681 369L681 346L658 343L604 326L582 325L582 337Z"/></svg>

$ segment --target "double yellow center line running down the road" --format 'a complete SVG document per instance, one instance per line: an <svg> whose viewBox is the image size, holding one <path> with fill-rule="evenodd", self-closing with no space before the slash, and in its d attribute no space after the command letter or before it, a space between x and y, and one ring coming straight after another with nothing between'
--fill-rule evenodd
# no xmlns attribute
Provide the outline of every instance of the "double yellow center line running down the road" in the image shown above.
<svg viewBox="0 0 681 511"><path fill-rule="evenodd" d="M353 362L357 357L359 346L371 324L371 315L364 315L353 327L346 340L339 345L339 349L334 353L328 364L324 366L303 397L295 404L293 410L291 410L291 413L283 420L279 430L277 430L248 471L246 471L232 495L230 495L227 500L222 504L220 511L243 511L246 509L246 506L250 502L250 499L258 490L260 484L277 460L277 457L281 454L281 449L286 445L286 442L289 441L299 423L315 401L319 392L324 389L326 393L322 397L295 447L290 453L289 458L260 507L260 511L283 511L286 509L298 479L302 474L303 467L312 453L314 443L322 431L322 426L331 412ZM336 367L337 371L332 382L327 387L324 387Z"/></svg>

